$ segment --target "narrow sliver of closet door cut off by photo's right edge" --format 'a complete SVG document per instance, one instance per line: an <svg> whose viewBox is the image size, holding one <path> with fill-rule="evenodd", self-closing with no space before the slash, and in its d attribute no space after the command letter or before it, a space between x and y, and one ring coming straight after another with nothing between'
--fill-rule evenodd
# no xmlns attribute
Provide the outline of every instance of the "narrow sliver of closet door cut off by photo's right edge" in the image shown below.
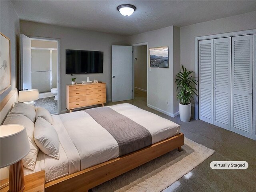
<svg viewBox="0 0 256 192"><path fill-rule="evenodd" d="M253 96L252 138L256 140L256 34L253 35Z"/></svg>

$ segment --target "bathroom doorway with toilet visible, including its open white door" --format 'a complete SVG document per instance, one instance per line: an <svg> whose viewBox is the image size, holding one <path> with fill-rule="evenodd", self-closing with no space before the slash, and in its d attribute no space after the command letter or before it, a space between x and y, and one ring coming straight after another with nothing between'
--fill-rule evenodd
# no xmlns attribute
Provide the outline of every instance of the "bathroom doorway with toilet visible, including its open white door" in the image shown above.
<svg viewBox="0 0 256 192"><path fill-rule="evenodd" d="M20 89L38 89L35 107L60 113L59 41L21 34ZM26 62L24 62L26 61Z"/></svg>

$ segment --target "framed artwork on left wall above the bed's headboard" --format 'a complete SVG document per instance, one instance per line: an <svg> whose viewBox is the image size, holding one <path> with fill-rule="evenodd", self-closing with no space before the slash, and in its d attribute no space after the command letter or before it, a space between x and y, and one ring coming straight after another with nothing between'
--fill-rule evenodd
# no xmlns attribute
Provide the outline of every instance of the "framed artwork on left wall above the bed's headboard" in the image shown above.
<svg viewBox="0 0 256 192"><path fill-rule="evenodd" d="M0 33L0 94L11 86L10 39Z"/></svg>

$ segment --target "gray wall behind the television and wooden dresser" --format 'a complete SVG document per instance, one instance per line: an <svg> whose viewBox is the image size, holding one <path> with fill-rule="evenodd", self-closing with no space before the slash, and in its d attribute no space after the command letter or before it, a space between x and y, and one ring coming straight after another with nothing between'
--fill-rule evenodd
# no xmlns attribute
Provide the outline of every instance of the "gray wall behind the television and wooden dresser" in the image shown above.
<svg viewBox="0 0 256 192"><path fill-rule="evenodd" d="M112 64L111 45L124 45L124 36L92 32L75 28L20 21L20 33L26 36L59 38L60 42L60 82L61 82L61 110L66 110L66 84L71 84L71 76L66 74L66 49L94 50L104 52L103 74L75 74L76 82L100 80L106 82L107 100L112 98Z"/></svg>

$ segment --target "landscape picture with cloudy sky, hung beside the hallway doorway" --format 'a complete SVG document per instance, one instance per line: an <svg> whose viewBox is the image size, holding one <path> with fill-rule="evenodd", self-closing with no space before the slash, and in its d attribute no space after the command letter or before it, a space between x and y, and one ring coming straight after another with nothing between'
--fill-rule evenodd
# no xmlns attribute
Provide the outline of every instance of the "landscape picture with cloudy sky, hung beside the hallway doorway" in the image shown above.
<svg viewBox="0 0 256 192"><path fill-rule="evenodd" d="M150 67L169 67L168 46L149 48Z"/></svg>

